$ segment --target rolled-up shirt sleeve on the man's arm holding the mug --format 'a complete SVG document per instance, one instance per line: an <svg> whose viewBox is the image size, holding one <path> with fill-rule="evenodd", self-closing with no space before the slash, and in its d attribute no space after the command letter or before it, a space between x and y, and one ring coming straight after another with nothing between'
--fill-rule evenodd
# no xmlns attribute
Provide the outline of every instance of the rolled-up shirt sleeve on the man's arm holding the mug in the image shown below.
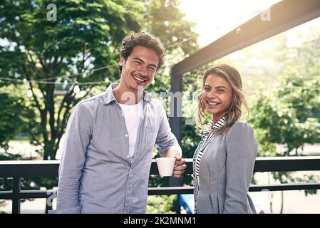
<svg viewBox="0 0 320 228"><path fill-rule="evenodd" d="M165 109L160 104L160 128L158 131L157 138L155 140L155 144L158 145L160 156L162 153L169 149L175 149L179 151L180 155L182 155L182 150L177 142L177 138L171 132L171 128L169 122L167 120L167 115L165 114Z"/></svg>

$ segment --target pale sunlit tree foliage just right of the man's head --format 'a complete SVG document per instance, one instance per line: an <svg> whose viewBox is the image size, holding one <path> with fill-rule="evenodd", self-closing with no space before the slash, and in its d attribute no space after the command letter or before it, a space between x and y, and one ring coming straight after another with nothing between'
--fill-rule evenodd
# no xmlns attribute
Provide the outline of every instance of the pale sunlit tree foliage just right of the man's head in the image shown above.
<svg viewBox="0 0 320 228"><path fill-rule="evenodd" d="M158 36L166 48L165 66L155 76L155 83L148 90L155 93L170 91L170 68L197 51L195 24L186 21L185 14L179 9L177 0L147 0L142 29ZM166 107L170 99L163 100ZM168 113L167 109L167 113Z"/></svg>

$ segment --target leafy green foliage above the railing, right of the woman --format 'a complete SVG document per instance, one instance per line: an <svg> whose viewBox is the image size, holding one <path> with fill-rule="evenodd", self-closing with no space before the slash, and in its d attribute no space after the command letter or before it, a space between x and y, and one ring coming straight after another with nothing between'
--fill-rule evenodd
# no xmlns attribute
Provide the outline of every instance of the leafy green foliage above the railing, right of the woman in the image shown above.
<svg viewBox="0 0 320 228"><path fill-rule="evenodd" d="M299 81L299 78L295 80L290 77L290 83L296 85L296 81ZM319 83L316 79L311 82ZM258 130L259 140L262 140L260 143L285 144L287 150L284 155L292 155L292 151L299 155L298 149L303 147L304 143L319 142L319 116L312 112L319 104L316 90L306 89L304 86L295 89L281 87L275 97L266 97L263 93L258 95L249 123L252 123L255 129L261 129Z"/></svg>

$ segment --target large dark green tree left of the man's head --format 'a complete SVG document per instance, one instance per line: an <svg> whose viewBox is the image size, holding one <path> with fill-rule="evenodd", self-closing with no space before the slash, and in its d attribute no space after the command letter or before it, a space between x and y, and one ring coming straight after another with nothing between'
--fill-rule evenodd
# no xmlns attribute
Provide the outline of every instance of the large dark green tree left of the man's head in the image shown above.
<svg viewBox="0 0 320 228"><path fill-rule="evenodd" d="M73 93L75 83L115 79L115 68L90 70L116 63L115 50L127 31L140 28L145 9L140 1L55 1L57 17L51 21L50 3L2 1L0 7L0 76L29 81L39 116L30 134L43 145L44 160L54 159L71 108L93 88L82 86L80 97ZM62 97L54 84L61 79L70 87Z"/></svg>

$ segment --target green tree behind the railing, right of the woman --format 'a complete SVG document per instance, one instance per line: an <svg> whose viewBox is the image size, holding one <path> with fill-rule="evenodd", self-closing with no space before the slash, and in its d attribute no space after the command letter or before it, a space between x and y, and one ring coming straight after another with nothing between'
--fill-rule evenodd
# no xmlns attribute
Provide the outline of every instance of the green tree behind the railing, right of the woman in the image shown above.
<svg viewBox="0 0 320 228"><path fill-rule="evenodd" d="M289 85L295 87L287 87L288 81ZM311 111L320 105L319 91L314 89L319 88L319 83L320 80L316 78L306 81L291 75L284 80L284 86L278 88L274 94L260 93L257 96L249 123L254 128L259 142L259 156L301 156L304 154L299 152L299 149L303 151L305 143L319 142L319 115L316 116ZM277 151L276 144L285 145L285 150ZM272 175L274 180L280 183L320 180L315 175L294 177L292 172L272 172ZM305 190L305 193L315 194L316 190Z"/></svg>

